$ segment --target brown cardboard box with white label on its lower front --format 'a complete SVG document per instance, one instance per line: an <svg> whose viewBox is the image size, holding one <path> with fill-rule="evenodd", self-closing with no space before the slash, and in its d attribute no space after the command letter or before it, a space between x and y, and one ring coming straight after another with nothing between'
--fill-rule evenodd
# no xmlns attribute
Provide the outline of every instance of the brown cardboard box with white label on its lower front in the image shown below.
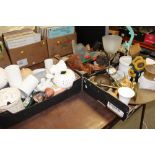
<svg viewBox="0 0 155 155"><path fill-rule="evenodd" d="M47 42L42 40L31 45L10 49L8 53L12 64L18 64L20 67L29 67L48 58Z"/></svg>

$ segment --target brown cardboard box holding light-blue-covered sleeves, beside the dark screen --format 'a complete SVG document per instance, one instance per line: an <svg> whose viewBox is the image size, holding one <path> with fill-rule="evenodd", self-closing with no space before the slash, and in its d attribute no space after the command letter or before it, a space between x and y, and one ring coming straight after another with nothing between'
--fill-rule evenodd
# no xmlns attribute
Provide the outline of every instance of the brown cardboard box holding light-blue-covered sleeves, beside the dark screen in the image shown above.
<svg viewBox="0 0 155 155"><path fill-rule="evenodd" d="M54 55L65 56L73 53L72 40L77 40L76 33L47 39L49 57L53 57Z"/></svg>

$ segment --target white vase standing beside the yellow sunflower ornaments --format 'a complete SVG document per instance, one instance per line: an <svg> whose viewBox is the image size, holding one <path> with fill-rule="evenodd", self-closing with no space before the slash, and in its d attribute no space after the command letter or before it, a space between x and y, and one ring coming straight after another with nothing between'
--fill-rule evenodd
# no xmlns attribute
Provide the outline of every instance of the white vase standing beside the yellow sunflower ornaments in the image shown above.
<svg viewBox="0 0 155 155"><path fill-rule="evenodd" d="M132 62L132 57L131 56L122 56L119 59L119 66L118 70L122 71L126 76L128 75L128 70L130 69L130 64Z"/></svg>

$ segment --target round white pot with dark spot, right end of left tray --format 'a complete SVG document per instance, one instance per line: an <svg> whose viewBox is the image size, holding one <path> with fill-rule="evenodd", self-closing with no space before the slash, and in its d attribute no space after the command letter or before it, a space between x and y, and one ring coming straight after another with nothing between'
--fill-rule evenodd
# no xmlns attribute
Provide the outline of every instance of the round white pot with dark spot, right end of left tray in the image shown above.
<svg viewBox="0 0 155 155"><path fill-rule="evenodd" d="M69 89L75 80L75 73L71 69L66 69L55 76L53 82L60 88Z"/></svg>

